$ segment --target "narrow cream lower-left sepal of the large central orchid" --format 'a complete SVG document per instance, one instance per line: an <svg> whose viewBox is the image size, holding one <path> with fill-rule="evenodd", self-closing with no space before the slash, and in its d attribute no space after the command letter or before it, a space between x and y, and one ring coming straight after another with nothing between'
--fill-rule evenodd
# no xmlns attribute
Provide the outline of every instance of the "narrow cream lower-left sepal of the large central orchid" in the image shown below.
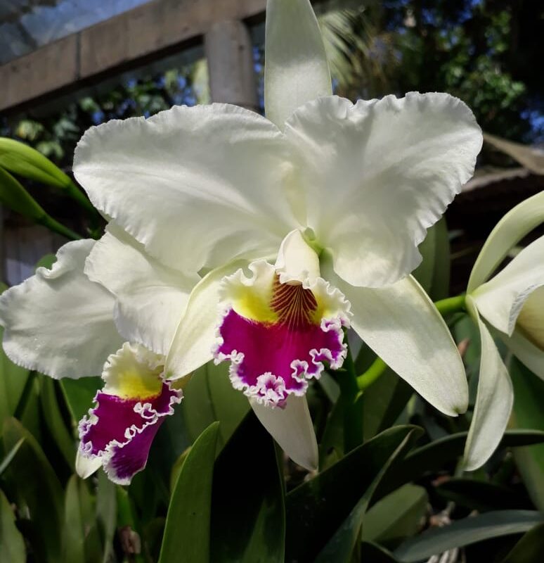
<svg viewBox="0 0 544 563"><path fill-rule="evenodd" d="M212 360L217 325L221 319L221 281L245 265L245 261L238 260L212 270L195 286L167 355L164 373L168 379L184 377Z"/></svg>

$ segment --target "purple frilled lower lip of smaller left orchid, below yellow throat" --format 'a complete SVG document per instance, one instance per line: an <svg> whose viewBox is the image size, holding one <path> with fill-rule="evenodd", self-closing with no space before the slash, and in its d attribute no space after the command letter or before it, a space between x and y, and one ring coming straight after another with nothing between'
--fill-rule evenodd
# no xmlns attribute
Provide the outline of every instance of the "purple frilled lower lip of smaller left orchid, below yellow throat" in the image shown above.
<svg viewBox="0 0 544 563"><path fill-rule="evenodd" d="M79 455L89 462L101 461L111 481L129 485L145 468L148 454L164 417L174 414L183 392L163 381L161 392L145 402L122 399L98 391L96 407L79 422Z"/></svg>

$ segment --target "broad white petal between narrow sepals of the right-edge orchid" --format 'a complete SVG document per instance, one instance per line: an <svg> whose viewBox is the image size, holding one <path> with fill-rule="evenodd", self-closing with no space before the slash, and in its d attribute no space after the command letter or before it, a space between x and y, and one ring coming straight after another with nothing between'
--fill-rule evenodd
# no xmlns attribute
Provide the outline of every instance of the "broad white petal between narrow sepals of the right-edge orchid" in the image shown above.
<svg viewBox="0 0 544 563"><path fill-rule="evenodd" d="M529 244L496 276L475 289L472 298L480 315L510 336L520 313L526 310L526 315L529 314L532 299L529 303L527 300L540 286L544 286L544 236ZM540 317L544 331L544 307L539 310L538 303L534 303L533 308L535 315L531 318L538 320Z"/></svg>

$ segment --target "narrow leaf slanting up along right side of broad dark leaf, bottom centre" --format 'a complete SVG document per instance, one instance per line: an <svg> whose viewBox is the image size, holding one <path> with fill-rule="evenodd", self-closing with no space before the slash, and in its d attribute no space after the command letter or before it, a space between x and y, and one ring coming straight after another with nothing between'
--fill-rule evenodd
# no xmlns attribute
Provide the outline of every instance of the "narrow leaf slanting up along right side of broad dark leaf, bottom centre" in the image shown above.
<svg viewBox="0 0 544 563"><path fill-rule="evenodd" d="M368 503L376 487L380 481L384 479L384 476L387 475L389 467L398 461L401 462L408 450L412 448L419 433L420 429L413 428L412 431L406 434L405 438L403 438L398 447L387 459L382 460L380 459L381 456L377 455L377 459L382 461L382 464L375 465L377 474L368 488L366 488L353 510L351 510L349 517L347 517L342 526L339 527L334 536L332 536L327 545L325 545L325 548L320 552L316 562L328 563L335 561L337 563L348 563L351 560L352 555L354 555L354 548L356 548L358 538L361 535L361 524L363 524L365 511L367 510ZM369 464L373 464L373 462Z"/></svg>

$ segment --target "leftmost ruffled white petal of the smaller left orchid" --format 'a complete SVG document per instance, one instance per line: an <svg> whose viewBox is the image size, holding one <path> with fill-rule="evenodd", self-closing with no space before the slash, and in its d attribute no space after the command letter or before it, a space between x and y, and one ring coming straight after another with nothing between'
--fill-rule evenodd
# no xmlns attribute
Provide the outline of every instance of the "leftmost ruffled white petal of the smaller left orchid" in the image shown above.
<svg viewBox="0 0 544 563"><path fill-rule="evenodd" d="M0 297L4 350L16 364L55 378L98 375L122 344L113 296L83 273L94 243L65 244L51 270L39 267Z"/></svg>

